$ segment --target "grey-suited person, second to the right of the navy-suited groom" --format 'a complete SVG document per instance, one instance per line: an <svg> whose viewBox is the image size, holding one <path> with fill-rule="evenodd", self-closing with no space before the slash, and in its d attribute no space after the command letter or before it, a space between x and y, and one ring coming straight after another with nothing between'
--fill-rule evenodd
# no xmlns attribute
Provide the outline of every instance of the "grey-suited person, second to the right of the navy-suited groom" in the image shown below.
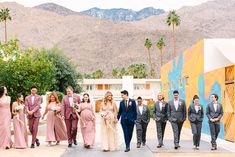
<svg viewBox="0 0 235 157"><path fill-rule="evenodd" d="M168 103L164 101L162 93L158 93L158 101L154 104L154 119L157 126L157 148L163 146L164 132L167 122L167 106Z"/></svg>

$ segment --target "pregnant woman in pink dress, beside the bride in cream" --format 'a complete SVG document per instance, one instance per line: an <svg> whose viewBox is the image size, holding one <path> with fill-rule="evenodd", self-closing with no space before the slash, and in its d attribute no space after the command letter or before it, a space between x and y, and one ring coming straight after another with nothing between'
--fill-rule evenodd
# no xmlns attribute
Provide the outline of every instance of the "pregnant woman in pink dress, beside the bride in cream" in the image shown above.
<svg viewBox="0 0 235 157"><path fill-rule="evenodd" d="M95 143L95 113L87 93L83 95L78 111L84 147L89 149Z"/></svg>

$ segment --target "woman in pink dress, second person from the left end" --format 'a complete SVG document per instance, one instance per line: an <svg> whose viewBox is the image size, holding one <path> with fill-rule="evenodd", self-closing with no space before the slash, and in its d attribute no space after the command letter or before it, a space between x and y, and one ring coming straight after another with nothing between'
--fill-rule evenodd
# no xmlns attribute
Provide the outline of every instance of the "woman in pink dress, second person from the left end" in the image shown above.
<svg viewBox="0 0 235 157"><path fill-rule="evenodd" d="M17 101L12 104L13 126L14 126L14 148L28 147L28 134L24 113L24 97L17 94Z"/></svg>

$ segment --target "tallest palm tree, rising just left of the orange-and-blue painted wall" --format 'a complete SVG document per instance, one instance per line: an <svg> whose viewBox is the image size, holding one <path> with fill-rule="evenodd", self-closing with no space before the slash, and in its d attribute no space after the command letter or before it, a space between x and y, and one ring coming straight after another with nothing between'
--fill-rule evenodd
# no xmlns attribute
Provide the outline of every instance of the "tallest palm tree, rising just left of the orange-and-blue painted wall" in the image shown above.
<svg viewBox="0 0 235 157"><path fill-rule="evenodd" d="M175 39L175 27L180 25L180 16L176 14L175 10L172 10L169 12L167 15L167 21L166 21L168 26L172 25L173 29L173 45L174 45L174 57L176 57L176 39Z"/></svg>

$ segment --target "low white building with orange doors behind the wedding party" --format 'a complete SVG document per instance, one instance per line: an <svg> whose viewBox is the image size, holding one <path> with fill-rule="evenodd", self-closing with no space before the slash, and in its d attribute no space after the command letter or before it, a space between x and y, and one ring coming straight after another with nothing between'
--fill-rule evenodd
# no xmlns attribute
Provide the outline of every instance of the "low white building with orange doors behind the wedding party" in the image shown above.
<svg viewBox="0 0 235 157"><path fill-rule="evenodd" d="M94 100L102 100L107 91L113 93L115 100L121 100L120 91L124 89L129 92L130 98L141 96L143 99L155 100L157 93L161 91L161 80L124 76L122 79L84 79L81 86Z"/></svg>

